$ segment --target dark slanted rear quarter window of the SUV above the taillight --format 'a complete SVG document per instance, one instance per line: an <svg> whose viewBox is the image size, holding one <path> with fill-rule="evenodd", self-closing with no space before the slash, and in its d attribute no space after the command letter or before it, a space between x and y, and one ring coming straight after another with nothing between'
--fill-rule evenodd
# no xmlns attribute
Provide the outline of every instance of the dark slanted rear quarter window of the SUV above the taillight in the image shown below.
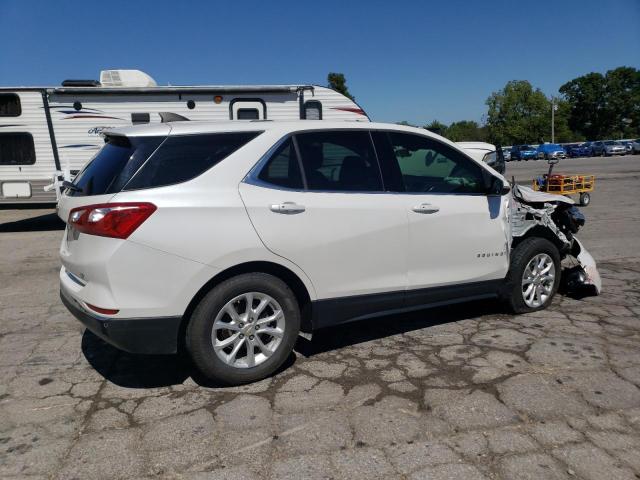
<svg viewBox="0 0 640 480"><path fill-rule="evenodd" d="M209 170L262 132L172 136L127 183L125 190L186 182Z"/></svg>

